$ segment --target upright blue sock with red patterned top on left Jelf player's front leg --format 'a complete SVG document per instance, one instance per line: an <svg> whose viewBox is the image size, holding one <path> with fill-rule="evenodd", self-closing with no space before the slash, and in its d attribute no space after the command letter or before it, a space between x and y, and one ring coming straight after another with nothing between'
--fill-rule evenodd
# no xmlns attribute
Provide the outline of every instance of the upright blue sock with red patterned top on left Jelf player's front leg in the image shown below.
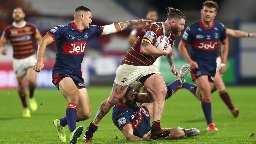
<svg viewBox="0 0 256 144"><path fill-rule="evenodd" d="M77 105L68 103L66 109L66 118L70 133L76 129Z"/></svg>

